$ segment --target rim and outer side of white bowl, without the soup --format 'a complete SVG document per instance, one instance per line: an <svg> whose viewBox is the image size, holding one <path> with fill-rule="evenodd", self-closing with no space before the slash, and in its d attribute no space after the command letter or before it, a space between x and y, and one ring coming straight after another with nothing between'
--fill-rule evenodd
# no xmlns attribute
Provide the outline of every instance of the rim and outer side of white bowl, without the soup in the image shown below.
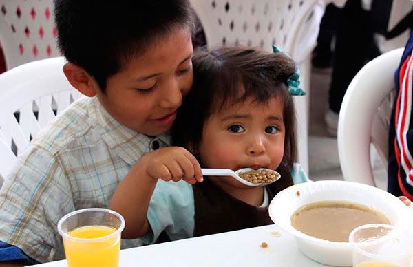
<svg viewBox="0 0 413 267"><path fill-rule="evenodd" d="M291 225L291 215L299 207L322 200L345 200L370 206L385 214L394 226L403 229L407 229L412 222L411 213L401 200L373 186L346 181L306 182L290 186L271 201L271 220L284 231L295 235L299 249L321 264L352 266L350 243L311 237Z"/></svg>

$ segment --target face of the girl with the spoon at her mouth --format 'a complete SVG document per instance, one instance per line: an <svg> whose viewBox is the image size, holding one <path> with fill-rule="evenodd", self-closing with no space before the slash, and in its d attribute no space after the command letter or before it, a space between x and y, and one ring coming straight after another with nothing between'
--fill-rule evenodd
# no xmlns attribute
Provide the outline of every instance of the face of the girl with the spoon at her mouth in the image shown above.
<svg viewBox="0 0 413 267"><path fill-rule="evenodd" d="M268 103L245 103L225 107L205 122L198 153L205 168L277 169L284 155L284 105L273 98ZM211 178L217 183L244 188L232 178Z"/></svg>

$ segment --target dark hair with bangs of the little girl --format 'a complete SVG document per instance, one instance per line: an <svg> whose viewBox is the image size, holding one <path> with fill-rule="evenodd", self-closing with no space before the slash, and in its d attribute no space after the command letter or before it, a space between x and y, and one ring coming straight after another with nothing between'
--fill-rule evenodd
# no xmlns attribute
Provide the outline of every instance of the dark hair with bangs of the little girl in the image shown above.
<svg viewBox="0 0 413 267"><path fill-rule="evenodd" d="M295 109L288 92L287 78L295 63L282 54L266 53L251 47L220 47L193 56L193 87L185 96L171 129L173 145L188 148L202 139L204 123L214 112L252 97L257 103L281 98L286 130L284 157L279 169L289 172L297 158Z"/></svg>

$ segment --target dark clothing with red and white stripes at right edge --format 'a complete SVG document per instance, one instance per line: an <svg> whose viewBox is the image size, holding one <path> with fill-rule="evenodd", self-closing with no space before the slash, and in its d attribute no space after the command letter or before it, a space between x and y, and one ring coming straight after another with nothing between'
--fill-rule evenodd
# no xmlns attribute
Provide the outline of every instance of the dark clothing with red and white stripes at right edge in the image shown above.
<svg viewBox="0 0 413 267"><path fill-rule="evenodd" d="M413 200L413 34L394 75L396 99L389 130L388 191Z"/></svg>

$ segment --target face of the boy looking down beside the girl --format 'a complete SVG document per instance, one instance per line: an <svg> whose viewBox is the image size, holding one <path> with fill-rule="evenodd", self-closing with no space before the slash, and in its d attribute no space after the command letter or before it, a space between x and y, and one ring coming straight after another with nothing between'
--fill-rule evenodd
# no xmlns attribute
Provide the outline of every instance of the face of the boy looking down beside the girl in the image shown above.
<svg viewBox="0 0 413 267"><path fill-rule="evenodd" d="M105 93L96 90L100 103L134 131L149 136L165 133L192 86L192 54L191 32L173 30L108 78Z"/></svg>

